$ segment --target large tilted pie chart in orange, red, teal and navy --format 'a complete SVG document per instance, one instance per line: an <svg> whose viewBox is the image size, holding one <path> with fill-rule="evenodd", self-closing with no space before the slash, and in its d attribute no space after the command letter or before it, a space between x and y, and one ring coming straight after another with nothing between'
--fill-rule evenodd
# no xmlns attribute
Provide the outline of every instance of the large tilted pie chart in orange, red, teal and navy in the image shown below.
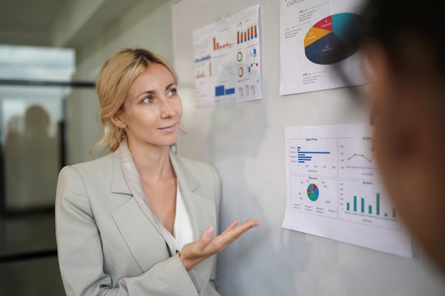
<svg viewBox="0 0 445 296"><path fill-rule="evenodd" d="M345 60L357 51L355 37L365 30L365 21L355 13L337 13L321 19L304 37L304 53L319 65Z"/></svg>

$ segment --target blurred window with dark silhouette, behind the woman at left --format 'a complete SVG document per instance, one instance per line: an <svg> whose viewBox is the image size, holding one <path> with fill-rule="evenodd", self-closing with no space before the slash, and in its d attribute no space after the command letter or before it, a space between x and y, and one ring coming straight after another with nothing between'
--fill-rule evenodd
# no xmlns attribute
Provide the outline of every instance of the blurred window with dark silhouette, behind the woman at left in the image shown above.
<svg viewBox="0 0 445 296"><path fill-rule="evenodd" d="M52 209L75 51L0 45L2 212Z"/></svg>

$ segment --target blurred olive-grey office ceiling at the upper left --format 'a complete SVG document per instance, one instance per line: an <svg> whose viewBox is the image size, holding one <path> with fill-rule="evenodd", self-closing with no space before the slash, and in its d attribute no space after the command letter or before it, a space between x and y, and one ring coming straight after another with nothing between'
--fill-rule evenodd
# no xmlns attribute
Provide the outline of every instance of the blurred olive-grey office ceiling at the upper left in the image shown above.
<svg viewBox="0 0 445 296"><path fill-rule="evenodd" d="M82 48L138 4L150 13L163 1L1 0L0 45Z"/></svg>

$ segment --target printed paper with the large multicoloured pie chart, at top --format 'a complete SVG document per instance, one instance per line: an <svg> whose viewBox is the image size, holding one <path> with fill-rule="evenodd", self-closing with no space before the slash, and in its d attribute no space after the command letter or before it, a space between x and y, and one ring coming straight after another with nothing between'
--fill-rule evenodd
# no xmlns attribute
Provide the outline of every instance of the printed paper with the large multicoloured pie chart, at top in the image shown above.
<svg viewBox="0 0 445 296"><path fill-rule="evenodd" d="M359 85L356 46L365 21L361 0L282 0L280 6L281 77L279 94L298 94ZM347 79L341 78L339 70Z"/></svg>

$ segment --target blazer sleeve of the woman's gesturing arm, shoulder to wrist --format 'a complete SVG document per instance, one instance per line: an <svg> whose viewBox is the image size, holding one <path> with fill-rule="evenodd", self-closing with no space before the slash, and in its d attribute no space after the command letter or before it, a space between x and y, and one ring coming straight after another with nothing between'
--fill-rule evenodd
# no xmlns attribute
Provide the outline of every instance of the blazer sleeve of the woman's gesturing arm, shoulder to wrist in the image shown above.
<svg viewBox="0 0 445 296"><path fill-rule="evenodd" d="M198 295L178 255L156 263L139 276L113 283L110 275L104 273L100 231L85 183L73 167L63 168L58 177L55 232L67 296Z"/></svg>

